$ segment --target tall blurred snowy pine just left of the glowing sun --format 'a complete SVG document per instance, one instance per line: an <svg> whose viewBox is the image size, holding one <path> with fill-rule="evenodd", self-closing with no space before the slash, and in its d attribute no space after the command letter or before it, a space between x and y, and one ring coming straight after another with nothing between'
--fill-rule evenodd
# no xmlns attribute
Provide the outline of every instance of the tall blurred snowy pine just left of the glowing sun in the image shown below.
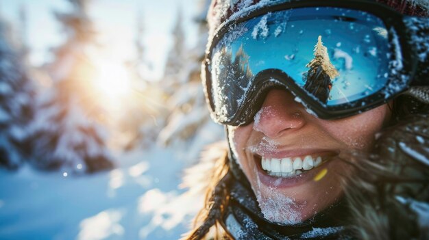
<svg viewBox="0 0 429 240"><path fill-rule="evenodd" d="M69 0L70 13L56 13L64 25L66 42L54 51L55 60L47 66L52 88L40 94L38 111L32 123L30 161L42 170L95 172L112 168L112 157L106 146L106 131L88 117L90 105L82 95L88 88L91 68L86 54L94 35L86 14L86 1Z"/></svg>

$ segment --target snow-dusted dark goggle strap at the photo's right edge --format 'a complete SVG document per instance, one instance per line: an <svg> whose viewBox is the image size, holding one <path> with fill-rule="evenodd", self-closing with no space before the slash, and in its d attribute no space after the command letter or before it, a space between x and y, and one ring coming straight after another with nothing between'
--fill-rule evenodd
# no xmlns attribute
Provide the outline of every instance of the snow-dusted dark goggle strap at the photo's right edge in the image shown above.
<svg viewBox="0 0 429 240"><path fill-rule="evenodd" d="M414 50L417 59L415 79L410 85L429 85L429 18L416 16L404 17L404 25L408 31L408 44Z"/></svg>

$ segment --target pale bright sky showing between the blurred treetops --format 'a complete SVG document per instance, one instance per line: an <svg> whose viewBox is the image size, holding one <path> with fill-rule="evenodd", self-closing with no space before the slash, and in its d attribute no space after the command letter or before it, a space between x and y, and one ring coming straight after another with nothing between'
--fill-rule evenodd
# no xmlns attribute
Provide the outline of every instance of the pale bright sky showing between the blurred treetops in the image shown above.
<svg viewBox="0 0 429 240"><path fill-rule="evenodd" d="M90 16L102 33L101 44L108 54L118 59L134 57L132 49L136 38L138 11L143 12L143 42L145 58L153 70L149 77L157 78L164 70L166 53L171 47L171 31L182 10L186 44L197 42L196 27L192 22L197 14L197 0L90 0ZM32 48L30 61L42 64L50 60L49 48L60 44L64 39L61 25L55 20L53 11L66 12L70 9L66 0L0 0L0 15L19 28L19 9L27 11L27 42Z"/></svg>

